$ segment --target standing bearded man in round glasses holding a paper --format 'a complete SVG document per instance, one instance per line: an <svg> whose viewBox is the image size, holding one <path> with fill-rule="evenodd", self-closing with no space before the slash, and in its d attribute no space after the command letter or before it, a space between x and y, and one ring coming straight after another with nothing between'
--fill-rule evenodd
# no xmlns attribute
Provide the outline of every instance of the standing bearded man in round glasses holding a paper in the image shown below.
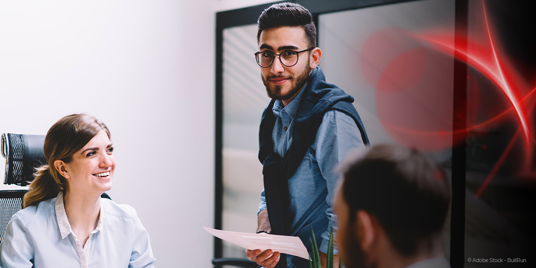
<svg viewBox="0 0 536 268"><path fill-rule="evenodd" d="M368 138L352 96L326 83L318 67L322 51L311 13L274 4L260 14L258 28L255 57L272 101L259 130L264 190L257 232L298 236L311 251L312 227L325 266L330 230L337 229L333 198L341 176L334 169ZM272 250L246 255L264 267L309 267Z"/></svg>

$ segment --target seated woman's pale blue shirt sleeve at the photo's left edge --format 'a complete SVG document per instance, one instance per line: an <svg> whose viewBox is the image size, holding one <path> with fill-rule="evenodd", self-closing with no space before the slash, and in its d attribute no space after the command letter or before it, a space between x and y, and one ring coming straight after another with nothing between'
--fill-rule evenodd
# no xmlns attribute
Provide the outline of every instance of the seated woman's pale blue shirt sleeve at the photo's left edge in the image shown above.
<svg viewBox="0 0 536 268"><path fill-rule="evenodd" d="M13 215L0 244L0 267L32 267L34 247L24 220Z"/></svg>

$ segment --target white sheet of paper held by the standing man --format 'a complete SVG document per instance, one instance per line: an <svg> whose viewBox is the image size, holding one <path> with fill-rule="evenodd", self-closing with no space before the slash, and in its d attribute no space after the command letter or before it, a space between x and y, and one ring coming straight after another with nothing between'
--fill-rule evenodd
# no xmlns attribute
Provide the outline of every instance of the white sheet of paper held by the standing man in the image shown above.
<svg viewBox="0 0 536 268"><path fill-rule="evenodd" d="M287 235L272 235L266 233L251 234L217 230L203 227L211 235L227 242L239 245L249 250L271 249L279 253L290 254L300 258L309 259L309 252L303 245L300 237Z"/></svg>

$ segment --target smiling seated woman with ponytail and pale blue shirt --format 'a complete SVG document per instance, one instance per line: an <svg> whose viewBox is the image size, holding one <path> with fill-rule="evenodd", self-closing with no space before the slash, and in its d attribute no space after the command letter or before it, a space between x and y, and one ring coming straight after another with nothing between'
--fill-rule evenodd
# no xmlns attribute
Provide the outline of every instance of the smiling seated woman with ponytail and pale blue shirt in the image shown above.
<svg viewBox="0 0 536 268"><path fill-rule="evenodd" d="M111 189L113 151L110 131L91 115L65 116L48 130L48 165L6 227L0 267L154 267L136 211L100 197Z"/></svg>

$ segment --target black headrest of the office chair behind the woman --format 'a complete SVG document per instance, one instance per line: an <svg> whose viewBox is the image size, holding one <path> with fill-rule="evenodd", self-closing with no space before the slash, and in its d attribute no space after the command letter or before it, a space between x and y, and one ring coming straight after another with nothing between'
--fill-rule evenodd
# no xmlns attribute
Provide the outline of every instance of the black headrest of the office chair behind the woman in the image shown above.
<svg viewBox="0 0 536 268"><path fill-rule="evenodd" d="M44 135L4 133L2 155L5 157L4 184L28 185L35 169L46 165L43 154Z"/></svg>

